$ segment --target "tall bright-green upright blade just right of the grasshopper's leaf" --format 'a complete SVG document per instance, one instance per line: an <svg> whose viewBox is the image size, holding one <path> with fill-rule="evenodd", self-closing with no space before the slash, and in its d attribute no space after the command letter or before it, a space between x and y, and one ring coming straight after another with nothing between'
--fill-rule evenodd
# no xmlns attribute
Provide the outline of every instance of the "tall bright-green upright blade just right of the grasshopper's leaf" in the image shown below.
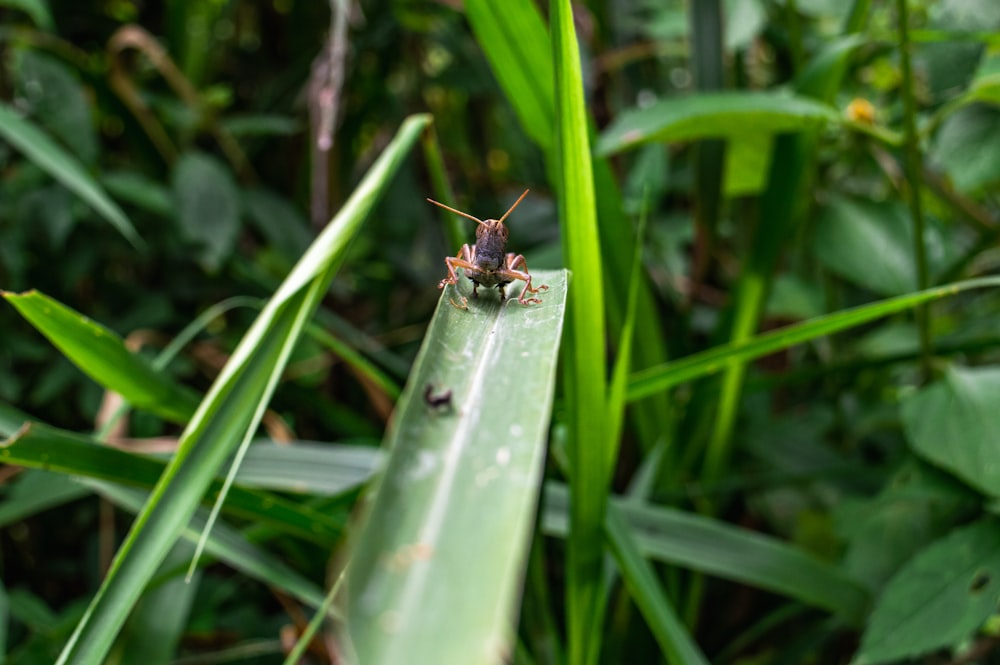
<svg viewBox="0 0 1000 665"><path fill-rule="evenodd" d="M569 0L549 3L556 89L555 172L563 260L579 280L567 306L563 387L569 429L573 502L566 548L568 662L597 662L603 616L601 570L607 504L607 372L604 353L604 268L597 228L587 105L580 46Z"/></svg>

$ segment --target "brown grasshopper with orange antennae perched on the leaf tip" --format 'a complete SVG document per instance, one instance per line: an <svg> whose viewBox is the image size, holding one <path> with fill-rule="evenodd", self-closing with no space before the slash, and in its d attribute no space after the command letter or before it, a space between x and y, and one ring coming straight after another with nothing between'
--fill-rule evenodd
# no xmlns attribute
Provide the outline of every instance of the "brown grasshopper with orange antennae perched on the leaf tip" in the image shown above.
<svg viewBox="0 0 1000 665"><path fill-rule="evenodd" d="M444 262L448 266L448 276L438 284L439 289L443 289L446 284L457 284L458 276L455 274L455 268L461 268L465 276L472 280L472 296L474 298L479 297L477 289L482 285L487 288L496 286L500 290L500 300L506 300L507 293L505 287L515 279L520 279L524 281L524 288L521 290L521 295L517 297L517 301L522 305L542 302L538 298L525 298L524 295L526 293L538 293L549 287L545 284L540 284L537 287L531 286L531 275L528 273L528 264L524 262L524 256L506 251L507 236L510 230L503 225L503 220L507 219L507 215L527 195L528 190L526 189L524 190L524 194L521 194L521 198L514 201L514 205L510 207L510 210L503 214L503 217L500 219L487 219L485 222L461 210L455 210L443 203L438 203L434 199L427 199L436 206L440 206L449 212L461 215L479 224L476 227L476 244L469 246L466 243L462 245L462 249L459 250L458 254L445 257ZM522 269L519 270L519 267ZM461 307L466 308L468 304L468 299L463 296ZM452 305L459 307L454 301Z"/></svg>

